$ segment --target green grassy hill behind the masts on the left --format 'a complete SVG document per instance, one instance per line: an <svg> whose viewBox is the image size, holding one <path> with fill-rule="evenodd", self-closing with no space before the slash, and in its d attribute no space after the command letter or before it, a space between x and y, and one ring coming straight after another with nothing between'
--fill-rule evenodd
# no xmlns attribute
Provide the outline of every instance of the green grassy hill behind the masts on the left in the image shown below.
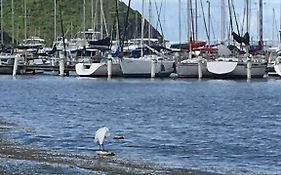
<svg viewBox="0 0 281 175"><path fill-rule="evenodd" d="M97 0L94 0L94 4ZM66 37L74 36L78 31L83 29L83 0L57 0L62 7L62 18ZM99 0L98 0L99 2ZM113 31L116 8L115 0L104 0L104 12L107 21L107 28ZM54 38L54 1L53 0L26 0L27 6L27 37L39 36L44 38L48 45L51 45ZM92 11L91 0L86 0L86 28L92 28ZM61 35L61 25L59 16L59 5L57 5L57 35ZM100 8L97 10L96 28L100 29ZM120 30L124 31L125 16L127 6L119 2ZM5 36L5 44L11 43L12 36L12 6L11 1L3 1L3 28L9 35ZM24 0L14 0L14 35L16 42L24 39ZM146 22L146 29L148 23ZM114 28L115 29L115 28ZM130 10L128 38L140 37L141 15L137 11ZM146 36L147 32L146 30ZM113 32L115 33L115 32ZM153 37L160 37L155 29L152 29ZM115 38L115 37L114 37Z"/></svg>

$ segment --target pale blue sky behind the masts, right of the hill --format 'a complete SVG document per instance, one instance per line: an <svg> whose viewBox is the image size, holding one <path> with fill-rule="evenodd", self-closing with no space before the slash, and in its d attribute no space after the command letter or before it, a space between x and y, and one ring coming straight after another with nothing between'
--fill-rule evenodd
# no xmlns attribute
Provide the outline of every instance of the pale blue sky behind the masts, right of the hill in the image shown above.
<svg viewBox="0 0 281 175"><path fill-rule="evenodd" d="M121 0L128 4L129 0ZM145 18L148 19L149 12L149 0L145 1ZM179 7L179 1L181 1L181 7ZM192 0L194 3L194 0ZM258 39L258 0L250 0L250 29L249 33L252 41L257 41ZM210 13L211 13L211 35L210 39L214 41L218 41L221 39L221 5L220 0L210 0ZM244 18L244 2L245 0L234 0L234 9L237 17L237 21L239 23L239 31L245 32L246 27L242 25L242 21ZM162 3L161 10L161 24L164 30L164 37L168 39L172 43L176 42L184 42L188 39L188 23L187 23L187 0L151 0L151 23L153 26L157 25L157 12L156 5L158 10L160 9ZM205 19L208 21L208 5L206 0L202 0ZM226 4L226 28L230 28L229 22L229 12L227 6L227 0L225 0ZM193 4L194 8L195 4ZM277 44L279 41L279 29L280 29L280 12L281 12L281 1L280 0L263 0L263 38L264 40L271 42L275 41ZM135 10L138 10L140 13L142 12L142 0L132 0L131 7ZM181 9L181 10L179 10ZM181 11L181 30L179 29L179 11ZM234 18L234 17L233 17ZM245 19L245 18L244 18ZM202 9L200 6L200 0L198 0L198 38L201 40L207 40L207 32L204 25L204 17L202 13ZM245 20L244 20L245 21ZM208 23L208 22L207 22ZM245 24L246 22L244 22ZM242 27L244 26L244 27ZM233 28L234 31L237 32L237 27L235 25L235 21L233 20ZM158 30L160 31L159 27ZM226 29L227 30L227 29ZM181 31L181 32L179 32ZM229 31L229 30L228 30ZM243 32L243 33L244 33ZM180 35L181 33L181 35ZM227 32L226 32L227 33ZM227 35L227 34L226 34ZM180 37L181 36L181 37Z"/></svg>

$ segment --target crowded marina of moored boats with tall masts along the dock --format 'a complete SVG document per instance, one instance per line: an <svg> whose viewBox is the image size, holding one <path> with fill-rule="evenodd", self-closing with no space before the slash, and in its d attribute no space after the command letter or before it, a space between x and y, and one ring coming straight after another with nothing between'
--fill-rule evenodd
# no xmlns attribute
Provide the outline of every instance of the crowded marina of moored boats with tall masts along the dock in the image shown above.
<svg viewBox="0 0 281 175"><path fill-rule="evenodd" d="M12 1L13 2L13 1ZM1 6L2 6L1 2ZM200 1L202 11L198 11L198 1L188 0L186 2L187 15L187 42L181 42L181 15L179 13L179 43L170 44L168 40L154 29L151 18L146 19L145 15L152 15L151 1L142 1L139 27L134 36L126 36L131 1L129 1L126 12L127 23L123 28L119 26L119 1L116 4L110 4L115 8L116 28L112 28L111 35L107 25L108 17L105 14L104 2L102 0L90 2L91 4L91 22L92 28L89 28L89 20L86 13L87 4L83 0L81 4L83 14L82 30L77 31L75 35L68 36L64 29L62 11L65 10L62 3L53 2L54 13L54 40L49 47L45 39L39 36L30 36L27 31L27 3L24 1L24 39L22 42L15 43L15 36L12 33L12 40L5 41L4 31L1 30L2 52L0 57L0 73L11 74L36 74L44 72L56 72L59 76L76 74L81 77L130 77L130 78L221 78L221 79L251 79L263 78L268 75L279 74L278 67L280 57L280 47L276 44L267 44L263 38L263 1L258 3L258 33L257 40L253 40L250 33L249 22L250 6L249 1L244 2L244 16L241 24L237 22L235 4L225 0L220 1L221 13L221 41L211 41L211 3L205 4ZM181 6L179 1L178 5ZM126 7L127 4L122 4ZM193 6L195 7L193 8ZM11 4L12 12L14 3ZM95 7L95 8L94 8ZM204 7L207 8L205 16ZM226 24L226 9L229 8L229 24ZM147 12L147 8L149 11ZM156 10L157 4L155 4ZM97 11L99 9L99 11ZM198 34L198 16L194 12L200 13L204 18L204 27L206 29L207 40L199 40ZM99 14L98 14L99 13ZM3 14L1 14L3 18ZM96 27L96 17L100 16L99 27ZM158 14L160 15L160 14ZM12 13L14 17L14 12ZM12 18L13 19L13 18ZM159 20L159 19L158 19ZM196 21L196 23L195 23ZM3 21L2 21L3 22ZM161 23L161 21L158 21ZM237 29L234 29L236 22ZM60 32L58 32L57 23L60 23ZM14 21L12 21L14 27ZM230 25L229 31L226 30ZM2 25L1 25L2 26ZM239 30L242 27L245 32ZM138 29L138 27L136 27ZM132 29L131 29L132 30ZM12 29L14 32L14 28ZM154 34L153 34L154 32ZM163 32L163 31L162 31ZM229 36L225 34L229 32ZM242 33L241 33L242 32ZM274 33L274 31L273 31ZM122 34L122 35L121 35ZM195 37L196 34L196 37ZM115 36L114 36L115 35ZM137 38L139 36L140 38ZM272 38L274 39L274 38ZM49 40L49 38L48 38ZM276 40L279 40L278 37ZM5 48L10 42L10 47ZM280 44L279 44L280 45ZM275 48L275 49L274 49ZM271 52L276 54L269 57ZM268 54L269 53L269 54ZM274 67L274 69L273 69ZM270 70L271 72L266 72ZM70 73L71 71L71 73ZM73 73L75 72L75 73Z"/></svg>

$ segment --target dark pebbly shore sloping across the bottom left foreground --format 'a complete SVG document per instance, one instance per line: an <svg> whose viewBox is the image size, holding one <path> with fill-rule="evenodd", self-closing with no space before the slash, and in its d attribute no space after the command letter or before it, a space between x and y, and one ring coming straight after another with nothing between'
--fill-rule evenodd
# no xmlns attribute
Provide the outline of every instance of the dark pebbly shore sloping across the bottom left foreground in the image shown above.
<svg viewBox="0 0 281 175"><path fill-rule="evenodd" d="M5 132L16 127L16 124L0 118L0 174L213 174L123 160L118 156L57 152L3 139Z"/></svg>

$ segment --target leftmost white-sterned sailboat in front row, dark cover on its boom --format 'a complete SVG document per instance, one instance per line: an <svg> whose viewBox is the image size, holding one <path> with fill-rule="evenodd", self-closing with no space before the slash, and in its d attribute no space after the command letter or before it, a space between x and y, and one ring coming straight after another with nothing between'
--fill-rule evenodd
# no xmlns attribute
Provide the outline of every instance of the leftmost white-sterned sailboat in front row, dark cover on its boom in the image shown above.
<svg viewBox="0 0 281 175"><path fill-rule="evenodd" d="M93 3L93 1L92 1ZM122 70L120 67L119 59L110 54L110 38L103 37L103 24L105 24L105 18L103 14L103 1L100 0L101 7L101 32L97 33L93 30L88 30L84 33L84 39L87 40L88 45L84 46L80 52L78 52L79 63L75 65L76 74L84 77L105 77L108 76L108 60L110 59L112 65L112 76L121 76ZM84 10L85 10L85 1L84 1ZM84 12L85 20L85 12ZM85 21L84 21L85 25ZM85 26L84 26L85 28ZM107 30L106 30L107 31ZM93 37L98 36L99 37ZM107 34L108 35L108 34Z"/></svg>

